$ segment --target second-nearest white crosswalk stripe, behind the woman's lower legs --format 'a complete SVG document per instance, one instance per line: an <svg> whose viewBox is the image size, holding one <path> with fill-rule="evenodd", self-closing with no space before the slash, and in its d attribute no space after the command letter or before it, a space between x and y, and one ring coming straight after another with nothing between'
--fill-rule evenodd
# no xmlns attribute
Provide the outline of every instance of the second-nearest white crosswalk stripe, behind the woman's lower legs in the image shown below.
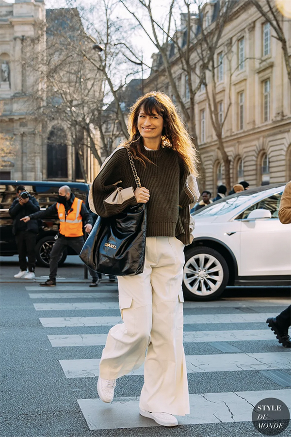
<svg viewBox="0 0 291 437"><path fill-rule="evenodd" d="M88 378L99 374L99 359L60 360L67 378ZM187 372L226 372L237 370L291 369L290 356L285 352L225 353L186 355ZM130 375L143 375L144 367Z"/></svg>

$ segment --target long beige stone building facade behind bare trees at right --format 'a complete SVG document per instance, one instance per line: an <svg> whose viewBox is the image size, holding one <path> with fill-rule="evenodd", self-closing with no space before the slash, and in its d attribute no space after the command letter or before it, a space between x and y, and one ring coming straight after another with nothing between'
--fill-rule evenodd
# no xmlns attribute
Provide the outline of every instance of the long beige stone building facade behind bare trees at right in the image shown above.
<svg viewBox="0 0 291 437"><path fill-rule="evenodd" d="M209 17L210 26L217 3L206 2L201 10L204 17ZM279 16L291 55L291 21L282 18ZM195 17L191 19L195 20ZM173 97L159 59L158 54L153 55L152 73L146 80L145 89L161 90ZM193 68L197 68L199 60L195 52L191 59ZM216 60L216 98L221 119L225 116L230 88L231 106L223 127L223 140L231 161L231 184L242 180L250 186L290 181L291 86L281 44L272 27L250 1L238 1L231 12L217 48ZM178 55L173 56L172 71L183 101L189 105L187 79ZM211 93L208 71L206 83ZM217 186L225 183L224 166L217 149L204 86L195 97L195 124L206 171L206 188L214 194Z"/></svg>

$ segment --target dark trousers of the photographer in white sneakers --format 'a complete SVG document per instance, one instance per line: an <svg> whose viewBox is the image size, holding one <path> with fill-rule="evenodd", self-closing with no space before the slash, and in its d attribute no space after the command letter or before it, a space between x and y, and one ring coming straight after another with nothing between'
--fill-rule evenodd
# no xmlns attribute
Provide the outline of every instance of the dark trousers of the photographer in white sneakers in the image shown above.
<svg viewBox="0 0 291 437"><path fill-rule="evenodd" d="M15 235L20 269L34 271L36 234L31 231L19 231ZM26 260L28 257L28 262Z"/></svg>

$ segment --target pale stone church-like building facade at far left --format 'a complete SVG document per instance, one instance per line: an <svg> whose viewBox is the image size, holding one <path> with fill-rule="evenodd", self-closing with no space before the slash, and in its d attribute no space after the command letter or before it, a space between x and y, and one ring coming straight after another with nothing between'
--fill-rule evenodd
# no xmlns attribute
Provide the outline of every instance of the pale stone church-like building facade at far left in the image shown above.
<svg viewBox="0 0 291 437"><path fill-rule="evenodd" d="M0 168L1 179L83 180L78 154L62 119L37 116L46 101L48 13L44 0L0 0L0 132L11 140L13 157ZM39 68L30 56L40 54ZM45 65L45 63L44 63ZM83 141L84 142L84 141ZM98 165L89 148L83 147L83 162L92 182Z"/></svg>

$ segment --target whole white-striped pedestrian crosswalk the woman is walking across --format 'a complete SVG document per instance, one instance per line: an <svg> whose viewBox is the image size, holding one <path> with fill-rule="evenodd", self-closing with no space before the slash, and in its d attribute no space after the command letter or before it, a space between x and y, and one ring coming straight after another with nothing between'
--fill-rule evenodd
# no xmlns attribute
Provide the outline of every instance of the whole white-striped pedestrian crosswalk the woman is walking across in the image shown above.
<svg viewBox="0 0 291 437"><path fill-rule="evenodd" d="M26 290L36 314L41 316L39 321L48 333L50 347L63 351L65 359L60 359L59 365L65 378L96 378L97 381L100 358L96 357L95 347L103 347L110 327L122 323L117 285L101 284L92 292L78 285L58 286L49 292L39 286L27 286ZM224 387L220 387L216 392L211 388L210 392L199 393L192 388L191 413L179 417L179 424L251 422L253 407L259 400L268 397L280 399L291 407L291 383L288 383L291 380L290 353L279 345L265 323L268 317L275 316L289 304L288 299L279 301L270 298L184 303L184 323L188 327L183 341L185 347L190 348L186 354L189 378L199 373L201 377L208 375L209 381L213 382L215 375L259 374L265 389L223 391ZM197 347L199 351L195 352ZM72 348L76 352L75 359L65 353ZM83 351L87 351L86 358ZM88 352L91 358L88 358ZM277 377L274 379L275 372ZM142 366L126 378L142 385L142 380L136 378L143 378L143 374ZM285 385L280 384L280 377ZM271 379L276 381L272 387ZM123 378L117 381L117 385L123 384ZM112 404L107 405L97 398L96 392L96 398L76 398L76 402L90 430L159 426L139 415L138 396L116 397Z"/></svg>

